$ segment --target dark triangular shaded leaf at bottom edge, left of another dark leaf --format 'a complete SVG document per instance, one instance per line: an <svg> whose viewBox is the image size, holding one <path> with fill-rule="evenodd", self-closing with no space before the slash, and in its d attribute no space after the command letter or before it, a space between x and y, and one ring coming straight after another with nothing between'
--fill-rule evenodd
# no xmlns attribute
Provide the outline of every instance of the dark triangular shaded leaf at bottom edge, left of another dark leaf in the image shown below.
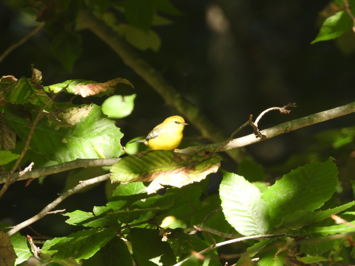
<svg viewBox="0 0 355 266"><path fill-rule="evenodd" d="M126 243L119 237L112 238L105 246L100 248L92 257L83 261L83 266L133 266L133 258Z"/></svg>

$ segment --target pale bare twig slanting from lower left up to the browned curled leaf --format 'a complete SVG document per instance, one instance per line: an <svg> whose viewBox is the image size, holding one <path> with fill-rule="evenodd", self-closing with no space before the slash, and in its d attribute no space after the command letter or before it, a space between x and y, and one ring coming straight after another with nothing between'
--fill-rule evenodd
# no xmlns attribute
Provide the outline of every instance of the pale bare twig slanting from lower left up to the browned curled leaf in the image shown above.
<svg viewBox="0 0 355 266"><path fill-rule="evenodd" d="M52 201L50 204L48 204L46 207L44 207L44 209L42 211L40 211L38 214L36 214L35 216L33 216L32 218L29 218L28 220L19 223L18 225L14 226L11 230L9 230L7 232L7 234L13 235L16 232L18 232L19 230L21 230L22 228L31 225L32 223L38 221L39 219L43 218L44 216L48 215L49 213L51 213L51 210L57 206L59 203L61 203L64 199L66 199L67 197L75 194L76 192L78 192L79 190L95 184L95 183L99 183L105 180L108 180L110 178L110 173L109 174L104 174L103 176L98 176L95 178L91 178L88 180L85 180L81 183L79 183L78 185L76 185L75 187L67 190L66 192L62 193L58 198L56 198L54 201Z"/></svg>

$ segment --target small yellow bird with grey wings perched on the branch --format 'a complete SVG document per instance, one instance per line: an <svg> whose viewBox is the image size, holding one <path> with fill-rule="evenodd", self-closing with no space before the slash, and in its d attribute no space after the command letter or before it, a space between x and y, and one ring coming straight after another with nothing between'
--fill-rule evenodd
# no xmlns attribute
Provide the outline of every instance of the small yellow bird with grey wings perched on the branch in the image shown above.
<svg viewBox="0 0 355 266"><path fill-rule="evenodd" d="M181 116L170 116L163 123L154 127L145 139L133 140L143 142L151 150L175 150L181 143L182 131L188 125Z"/></svg>

